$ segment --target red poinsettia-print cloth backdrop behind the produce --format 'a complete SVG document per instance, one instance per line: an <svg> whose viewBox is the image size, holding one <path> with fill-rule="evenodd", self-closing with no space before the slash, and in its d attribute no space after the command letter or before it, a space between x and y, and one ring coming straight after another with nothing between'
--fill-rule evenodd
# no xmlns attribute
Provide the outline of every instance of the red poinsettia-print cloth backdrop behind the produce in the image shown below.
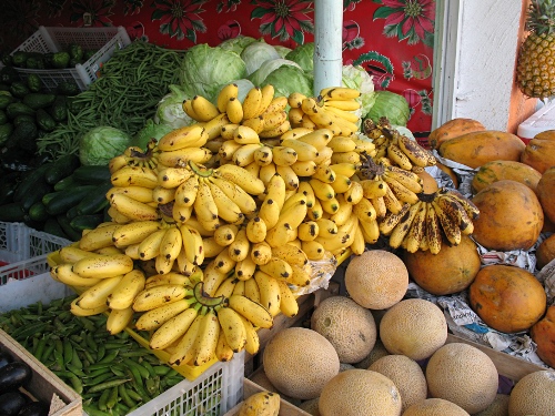
<svg viewBox="0 0 555 416"><path fill-rule="evenodd" d="M317 0L316 0L317 1ZM343 62L373 75L376 90L403 94L408 129L432 124L435 0L342 0ZM315 2L305 0L3 0L2 51L39 26L122 26L131 39L172 49L216 45L239 34L289 48L314 40Z"/></svg>

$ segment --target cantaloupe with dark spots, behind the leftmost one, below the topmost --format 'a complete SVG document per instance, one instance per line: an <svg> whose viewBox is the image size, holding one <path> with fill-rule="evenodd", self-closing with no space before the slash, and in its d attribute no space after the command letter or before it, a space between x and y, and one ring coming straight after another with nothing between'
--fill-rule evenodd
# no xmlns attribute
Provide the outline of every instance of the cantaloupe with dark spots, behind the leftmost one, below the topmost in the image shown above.
<svg viewBox="0 0 555 416"><path fill-rule="evenodd" d="M341 363L360 362L376 342L372 312L346 296L322 301L312 314L311 328L332 343Z"/></svg>

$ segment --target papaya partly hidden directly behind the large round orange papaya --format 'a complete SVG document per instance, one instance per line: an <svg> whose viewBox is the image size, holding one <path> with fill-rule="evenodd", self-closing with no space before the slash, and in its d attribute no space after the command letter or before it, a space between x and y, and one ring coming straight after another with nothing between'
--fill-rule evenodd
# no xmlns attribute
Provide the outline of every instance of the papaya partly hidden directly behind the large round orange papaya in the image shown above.
<svg viewBox="0 0 555 416"><path fill-rule="evenodd" d="M508 179L521 182L528 186L532 191L536 191L537 182L542 174L534 168L515 161L491 161L482 166L472 179L472 192L474 194L482 191L487 185Z"/></svg>

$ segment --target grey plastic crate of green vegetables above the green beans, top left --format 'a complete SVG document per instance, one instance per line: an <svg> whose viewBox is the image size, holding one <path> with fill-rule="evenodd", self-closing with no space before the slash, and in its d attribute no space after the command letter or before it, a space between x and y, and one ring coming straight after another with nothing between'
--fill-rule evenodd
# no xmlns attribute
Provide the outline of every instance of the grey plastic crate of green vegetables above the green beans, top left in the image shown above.
<svg viewBox="0 0 555 416"><path fill-rule="evenodd" d="M29 39L21 43L13 52L60 52L71 43L83 49L92 49L94 53L87 62L78 63L75 68L60 70L36 70L16 68L23 80L31 73L39 75L44 88L49 91L63 82L74 81L81 91L98 79L100 68L107 62L117 49L123 49L131 43L128 32L122 27L110 28L46 28L39 27Z"/></svg>

